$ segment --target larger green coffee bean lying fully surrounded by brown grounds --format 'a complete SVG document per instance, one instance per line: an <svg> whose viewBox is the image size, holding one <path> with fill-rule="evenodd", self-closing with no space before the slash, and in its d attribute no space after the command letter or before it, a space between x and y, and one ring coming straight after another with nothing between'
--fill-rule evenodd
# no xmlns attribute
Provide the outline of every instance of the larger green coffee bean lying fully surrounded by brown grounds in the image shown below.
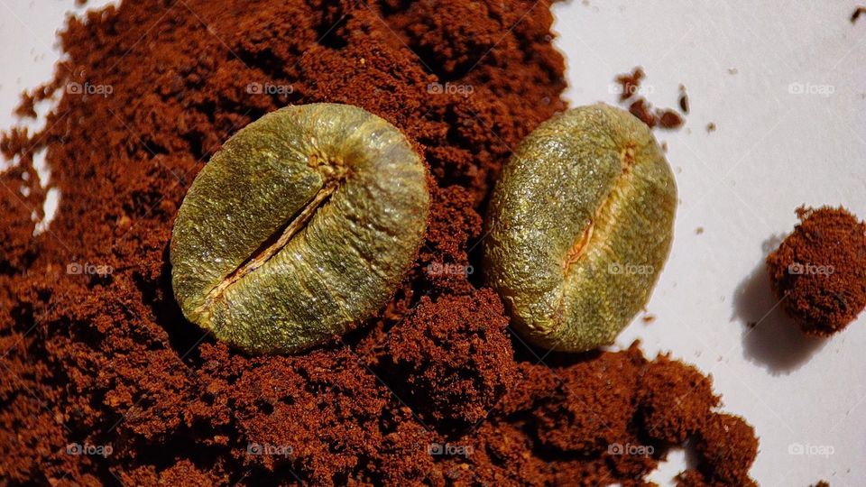
<svg viewBox="0 0 866 487"><path fill-rule="evenodd" d="M428 213L426 169L397 128L355 106L287 106L235 133L189 188L174 294L220 340L296 353L391 298Z"/></svg>

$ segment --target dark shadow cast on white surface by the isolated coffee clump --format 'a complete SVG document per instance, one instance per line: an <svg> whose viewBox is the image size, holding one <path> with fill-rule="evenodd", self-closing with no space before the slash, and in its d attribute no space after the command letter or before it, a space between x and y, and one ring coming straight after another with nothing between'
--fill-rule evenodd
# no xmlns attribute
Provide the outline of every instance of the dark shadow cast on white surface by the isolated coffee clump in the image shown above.
<svg viewBox="0 0 866 487"><path fill-rule="evenodd" d="M765 249L776 240L773 237L765 243ZM827 343L824 338L803 335L797 323L779 306L763 260L737 287L733 313L743 325L743 357L773 375L796 372Z"/></svg>

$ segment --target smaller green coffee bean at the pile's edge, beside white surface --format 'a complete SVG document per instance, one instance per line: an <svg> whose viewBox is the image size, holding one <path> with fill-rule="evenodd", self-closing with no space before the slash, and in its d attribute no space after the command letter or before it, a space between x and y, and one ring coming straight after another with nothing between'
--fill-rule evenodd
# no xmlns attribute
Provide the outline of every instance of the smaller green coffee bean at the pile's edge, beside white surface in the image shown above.
<svg viewBox="0 0 866 487"><path fill-rule="evenodd" d="M677 186L637 118L606 105L539 125L488 207L487 283L534 345L613 342L650 299L670 250Z"/></svg>

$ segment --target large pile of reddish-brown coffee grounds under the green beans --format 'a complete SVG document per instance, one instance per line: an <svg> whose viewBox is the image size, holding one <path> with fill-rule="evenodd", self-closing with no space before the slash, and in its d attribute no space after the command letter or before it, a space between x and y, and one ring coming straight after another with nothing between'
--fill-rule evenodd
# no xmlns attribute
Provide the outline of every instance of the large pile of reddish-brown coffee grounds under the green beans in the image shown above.
<svg viewBox="0 0 866 487"><path fill-rule="evenodd" d="M637 345L530 349L480 285L491 183L566 107L552 20L499 0L142 0L70 19L56 78L19 111L60 97L47 128L0 147L18 161L0 192L0 479L641 485L686 438L691 482L748 479L755 436L714 411L709 378ZM311 102L362 106L417 142L426 243L367 326L250 357L182 317L171 226L221 142ZM33 236L42 150L60 207Z"/></svg>

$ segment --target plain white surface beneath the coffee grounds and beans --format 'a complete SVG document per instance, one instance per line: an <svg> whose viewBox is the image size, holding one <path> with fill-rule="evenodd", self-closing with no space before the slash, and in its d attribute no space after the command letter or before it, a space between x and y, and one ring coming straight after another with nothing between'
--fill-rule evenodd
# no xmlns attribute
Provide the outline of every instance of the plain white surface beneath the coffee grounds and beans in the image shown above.
<svg viewBox="0 0 866 487"><path fill-rule="evenodd" d="M640 337L648 354L670 351L712 373L723 408L760 435L751 473L761 485L866 485L866 317L833 339L806 340L773 308L760 268L801 204L866 217L866 18L852 25L852 9L828 0L555 7L574 105L615 103L614 75L638 65L656 106L676 107L686 86L686 126L658 133L682 204L648 306L657 319L638 319L619 343ZM14 124L23 89L51 78L68 10L80 11L71 0L0 0L0 127ZM792 94L792 83L833 93ZM760 324L750 332L746 321ZM789 453L798 445L805 455ZM682 456L654 478L668 483Z"/></svg>

